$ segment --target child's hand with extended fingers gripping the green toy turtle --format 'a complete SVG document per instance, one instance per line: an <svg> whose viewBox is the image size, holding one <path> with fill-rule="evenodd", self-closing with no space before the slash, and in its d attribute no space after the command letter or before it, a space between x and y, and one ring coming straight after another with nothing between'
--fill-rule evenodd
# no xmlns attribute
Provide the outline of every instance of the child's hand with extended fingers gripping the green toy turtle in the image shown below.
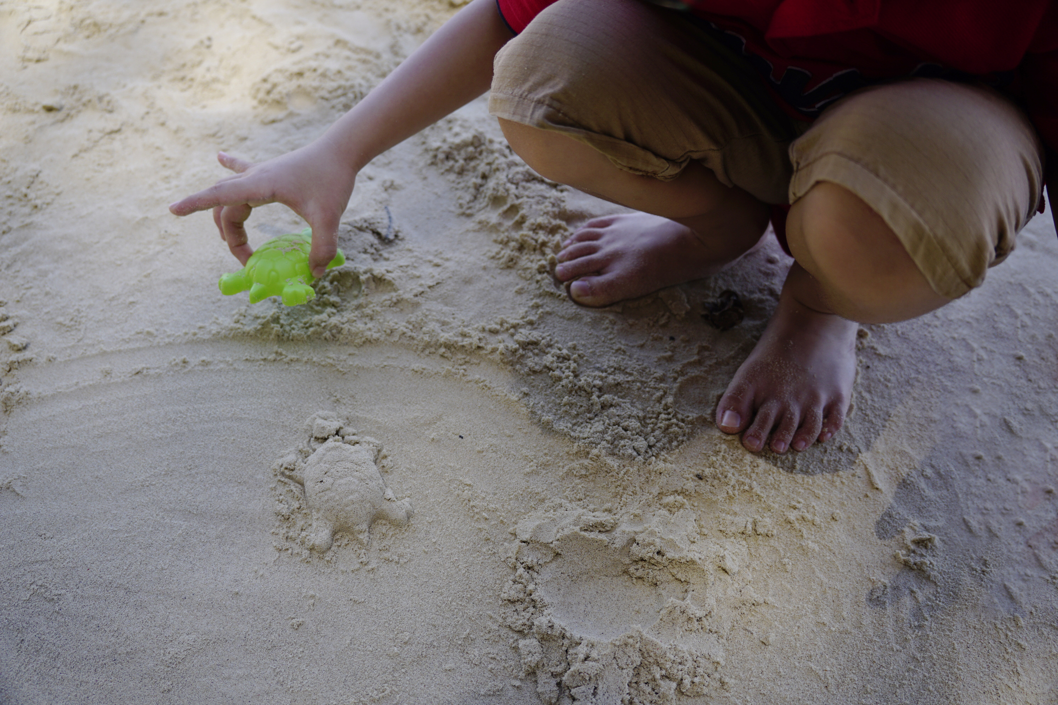
<svg viewBox="0 0 1058 705"><path fill-rule="evenodd" d="M339 159L326 141L282 156L251 164L224 152L217 160L236 173L169 206L176 216L213 208L220 238L242 264L253 249L243 225L251 209L281 203L312 227L312 276L322 277L338 252L338 226L352 196L357 171Z"/></svg>

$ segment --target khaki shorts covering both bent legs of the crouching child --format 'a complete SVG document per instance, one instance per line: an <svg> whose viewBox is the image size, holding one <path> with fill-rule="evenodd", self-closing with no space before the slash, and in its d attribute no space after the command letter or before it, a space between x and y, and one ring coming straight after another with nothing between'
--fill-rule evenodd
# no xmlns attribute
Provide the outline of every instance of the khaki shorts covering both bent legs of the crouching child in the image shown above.
<svg viewBox="0 0 1058 705"><path fill-rule="evenodd" d="M1042 145L990 89L915 78L789 117L746 62L686 15L639 0L559 0L496 55L493 115L674 179L691 160L770 204L820 181L856 193L933 289L979 286L1036 214Z"/></svg>

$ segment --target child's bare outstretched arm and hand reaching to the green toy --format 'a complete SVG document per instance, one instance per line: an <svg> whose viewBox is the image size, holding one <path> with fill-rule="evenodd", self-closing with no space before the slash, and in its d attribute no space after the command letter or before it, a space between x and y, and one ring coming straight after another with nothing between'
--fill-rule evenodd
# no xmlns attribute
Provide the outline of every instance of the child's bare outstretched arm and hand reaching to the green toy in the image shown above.
<svg viewBox="0 0 1058 705"><path fill-rule="evenodd" d="M489 89L492 60L511 38L495 0L473 0L315 142L260 164L223 152L236 173L169 206L177 216L212 208L220 237L245 264L251 209L282 203L312 226L309 264L322 276L357 173L380 153Z"/></svg>

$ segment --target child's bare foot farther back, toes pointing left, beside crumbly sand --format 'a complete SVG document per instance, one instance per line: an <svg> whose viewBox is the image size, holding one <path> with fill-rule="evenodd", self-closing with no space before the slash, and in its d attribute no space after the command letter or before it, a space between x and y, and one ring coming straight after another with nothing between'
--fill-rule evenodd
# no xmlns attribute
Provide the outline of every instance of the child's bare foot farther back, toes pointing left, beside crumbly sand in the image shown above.
<svg viewBox="0 0 1058 705"><path fill-rule="evenodd" d="M605 307L716 274L754 242L738 244L729 238L724 246L710 246L668 218L645 212L604 216L589 220L562 243L554 276L568 282L576 302Z"/></svg>

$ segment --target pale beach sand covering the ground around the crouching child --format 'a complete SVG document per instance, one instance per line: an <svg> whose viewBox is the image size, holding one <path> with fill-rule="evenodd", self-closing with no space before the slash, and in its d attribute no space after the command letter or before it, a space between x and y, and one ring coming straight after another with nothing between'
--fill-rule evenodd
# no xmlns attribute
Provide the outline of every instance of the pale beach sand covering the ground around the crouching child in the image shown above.
<svg viewBox="0 0 1058 705"><path fill-rule="evenodd" d="M1050 215L864 327L845 429L784 457L710 415L790 260L570 304L552 246L615 208L484 99L365 169L314 301L220 295L166 205L454 11L0 4L0 702L1058 701Z"/></svg>

